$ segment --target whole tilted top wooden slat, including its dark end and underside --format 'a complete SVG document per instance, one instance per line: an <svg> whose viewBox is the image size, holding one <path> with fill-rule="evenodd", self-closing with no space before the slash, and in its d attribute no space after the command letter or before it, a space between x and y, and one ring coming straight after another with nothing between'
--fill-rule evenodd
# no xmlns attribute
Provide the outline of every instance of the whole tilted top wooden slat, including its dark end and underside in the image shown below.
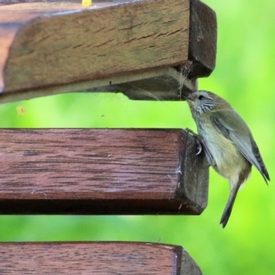
<svg viewBox="0 0 275 275"><path fill-rule="evenodd" d="M76 0L0 0L0 103L144 79L151 87L155 77L165 90L152 96L141 83L127 96L180 100L180 86L197 88L187 75L214 68L214 12L200 1L190 9L192 1L94 1L87 8ZM171 89L163 69L173 66Z"/></svg>

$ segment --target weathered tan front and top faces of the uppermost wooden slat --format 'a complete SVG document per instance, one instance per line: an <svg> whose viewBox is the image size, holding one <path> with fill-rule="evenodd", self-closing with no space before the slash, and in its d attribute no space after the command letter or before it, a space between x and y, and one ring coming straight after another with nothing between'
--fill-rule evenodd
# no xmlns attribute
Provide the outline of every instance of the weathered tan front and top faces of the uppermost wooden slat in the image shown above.
<svg viewBox="0 0 275 275"><path fill-rule="evenodd" d="M188 58L188 0L89 8L80 2L24 3L2 6L0 14L1 37L14 25L9 56L1 62L7 93L169 67Z"/></svg>

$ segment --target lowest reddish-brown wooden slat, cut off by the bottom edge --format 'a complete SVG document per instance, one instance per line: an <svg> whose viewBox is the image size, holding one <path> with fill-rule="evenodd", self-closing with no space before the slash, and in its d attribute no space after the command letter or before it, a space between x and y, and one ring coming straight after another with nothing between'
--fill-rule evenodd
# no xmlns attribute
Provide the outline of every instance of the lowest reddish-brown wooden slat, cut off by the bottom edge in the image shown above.
<svg viewBox="0 0 275 275"><path fill-rule="evenodd" d="M177 245L129 242L1 243L1 274L201 275Z"/></svg>

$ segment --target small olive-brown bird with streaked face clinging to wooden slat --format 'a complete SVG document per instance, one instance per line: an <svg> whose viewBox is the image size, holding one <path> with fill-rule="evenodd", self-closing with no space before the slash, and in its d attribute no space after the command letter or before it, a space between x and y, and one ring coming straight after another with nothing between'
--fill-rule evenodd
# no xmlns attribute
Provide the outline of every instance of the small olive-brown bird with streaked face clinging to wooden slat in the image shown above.
<svg viewBox="0 0 275 275"><path fill-rule="evenodd" d="M210 166L229 179L230 196L220 221L225 228L237 192L250 176L252 165L266 184L270 176L248 125L228 102L210 91L195 91L183 97L197 124L199 141Z"/></svg>

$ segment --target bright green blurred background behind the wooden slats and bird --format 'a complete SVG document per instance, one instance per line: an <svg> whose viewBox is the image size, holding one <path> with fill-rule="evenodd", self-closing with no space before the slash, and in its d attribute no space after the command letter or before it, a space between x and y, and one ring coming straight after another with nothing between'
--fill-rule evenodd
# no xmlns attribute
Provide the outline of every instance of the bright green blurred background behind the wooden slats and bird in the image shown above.
<svg viewBox="0 0 275 275"><path fill-rule="evenodd" d="M275 2L205 0L217 12L217 67L199 89L232 103L250 125L274 179ZM25 115L17 107L26 109ZM0 106L6 127L195 129L186 102L138 102L121 94L67 94ZM201 216L0 216L0 241L160 241L182 245L203 274L275 274L274 182L253 169L227 227L228 181L210 169Z"/></svg>

